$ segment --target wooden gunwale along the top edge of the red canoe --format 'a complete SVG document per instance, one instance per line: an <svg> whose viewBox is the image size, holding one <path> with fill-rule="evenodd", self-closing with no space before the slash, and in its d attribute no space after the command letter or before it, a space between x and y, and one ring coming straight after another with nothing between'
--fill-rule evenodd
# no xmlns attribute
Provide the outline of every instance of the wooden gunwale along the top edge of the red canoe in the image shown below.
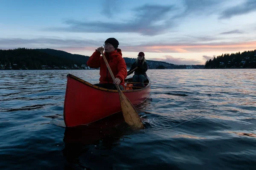
<svg viewBox="0 0 256 170"><path fill-rule="evenodd" d="M85 80L83 80L83 79L80 79L79 77L76 77L76 76L74 76L73 74L67 74L67 77L71 77L71 78L73 78L73 79L75 79L75 80L77 80L77 81L79 81L79 82L81 82L81 83L84 83L84 84L86 84L86 85L91 86L92 88L97 88L97 89L102 90L102 91L109 91L109 92L116 92L116 93L118 93L117 90L111 90L111 89L107 89L107 88L101 88L101 87L99 87L99 86L96 86L96 85L91 84L90 82L87 82L87 81L85 81ZM131 78L130 78L130 79L131 79ZM148 79L148 85L146 85L144 88L133 89L133 90L122 90L122 92L136 92L136 91L143 91L143 90L145 90L145 89L147 89L147 88L150 88L151 81L150 81L150 79L149 79L148 77L147 77L147 79ZM126 80L128 80L128 79L125 79L125 81L126 81ZM131 88L132 88L132 86L131 86Z"/></svg>

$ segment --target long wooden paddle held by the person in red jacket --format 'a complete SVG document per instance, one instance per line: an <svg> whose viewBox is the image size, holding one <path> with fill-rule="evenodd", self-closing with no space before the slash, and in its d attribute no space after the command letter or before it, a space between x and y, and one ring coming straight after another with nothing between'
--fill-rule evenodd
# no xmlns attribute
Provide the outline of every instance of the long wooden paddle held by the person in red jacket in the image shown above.
<svg viewBox="0 0 256 170"><path fill-rule="evenodd" d="M108 71L110 72L111 77L114 81L115 77L113 75L113 72L111 71L110 66L108 65L108 61L107 61L103 51L100 51L100 53L102 54L102 57L103 57L106 65L108 67ZM116 85L116 89L117 89L118 94L119 94L121 109L122 109L122 113L123 113L125 122L128 125L130 125L131 127L135 128L135 129L144 128L144 125L143 125L143 123L140 119L140 116L139 116L138 112L134 108L134 105L132 105L130 100L122 93L122 91L120 90L118 85Z"/></svg>

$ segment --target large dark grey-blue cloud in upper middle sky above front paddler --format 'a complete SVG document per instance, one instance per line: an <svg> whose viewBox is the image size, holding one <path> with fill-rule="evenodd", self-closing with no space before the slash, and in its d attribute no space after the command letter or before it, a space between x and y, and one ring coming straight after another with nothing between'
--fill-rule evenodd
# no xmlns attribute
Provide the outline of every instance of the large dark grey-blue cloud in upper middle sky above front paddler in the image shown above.
<svg viewBox="0 0 256 170"><path fill-rule="evenodd" d="M113 33L133 32L143 35L163 34L167 28L174 26L168 17L174 6L144 5L134 9L135 17L126 22L87 22L66 20L66 28L49 28L55 31ZM109 12L108 15L112 13Z"/></svg>

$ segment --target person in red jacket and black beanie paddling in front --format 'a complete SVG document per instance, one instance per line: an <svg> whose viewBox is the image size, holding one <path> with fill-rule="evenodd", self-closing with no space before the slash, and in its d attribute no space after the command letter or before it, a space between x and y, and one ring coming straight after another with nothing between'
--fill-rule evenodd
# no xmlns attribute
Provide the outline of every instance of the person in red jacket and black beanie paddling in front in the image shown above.
<svg viewBox="0 0 256 170"><path fill-rule="evenodd" d="M121 49L117 48L118 45L119 45L119 42L115 38L108 38L104 44L104 47L105 47L104 55L115 77L114 81L100 53L100 51L103 51L104 48L102 47L97 48L96 51L93 53L93 55L87 61L87 65L90 68L100 68L99 84L95 84L95 85L102 88L116 89L115 84L117 84L119 85L119 88L121 90L124 89L125 87L124 79L127 77L127 69L126 69L125 60L122 58L122 51Z"/></svg>

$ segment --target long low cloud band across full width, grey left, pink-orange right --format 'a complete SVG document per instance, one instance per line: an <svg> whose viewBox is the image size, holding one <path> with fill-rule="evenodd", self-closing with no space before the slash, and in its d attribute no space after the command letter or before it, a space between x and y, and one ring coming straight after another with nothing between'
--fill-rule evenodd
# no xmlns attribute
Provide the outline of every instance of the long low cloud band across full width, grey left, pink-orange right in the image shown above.
<svg viewBox="0 0 256 170"><path fill-rule="evenodd" d="M96 47L102 44L103 40L79 40L79 39L62 39L37 37L32 39L21 38L0 38L0 48L54 48L64 51L94 51ZM145 51L151 53L193 53L193 52L212 52L212 51L247 51L256 48L256 41L248 42L178 42L178 43L159 43L159 42L141 42L139 45L126 43L119 45L122 51L138 52Z"/></svg>

